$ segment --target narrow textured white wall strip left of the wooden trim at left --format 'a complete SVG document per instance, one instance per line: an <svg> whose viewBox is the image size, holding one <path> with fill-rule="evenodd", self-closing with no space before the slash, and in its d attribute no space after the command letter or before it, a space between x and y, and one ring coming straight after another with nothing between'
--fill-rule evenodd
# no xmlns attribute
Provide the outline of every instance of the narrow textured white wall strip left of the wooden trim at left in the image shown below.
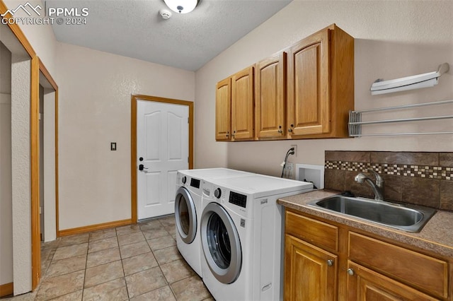
<svg viewBox="0 0 453 301"><path fill-rule="evenodd" d="M31 290L30 61L11 57L14 295Z"/></svg>

